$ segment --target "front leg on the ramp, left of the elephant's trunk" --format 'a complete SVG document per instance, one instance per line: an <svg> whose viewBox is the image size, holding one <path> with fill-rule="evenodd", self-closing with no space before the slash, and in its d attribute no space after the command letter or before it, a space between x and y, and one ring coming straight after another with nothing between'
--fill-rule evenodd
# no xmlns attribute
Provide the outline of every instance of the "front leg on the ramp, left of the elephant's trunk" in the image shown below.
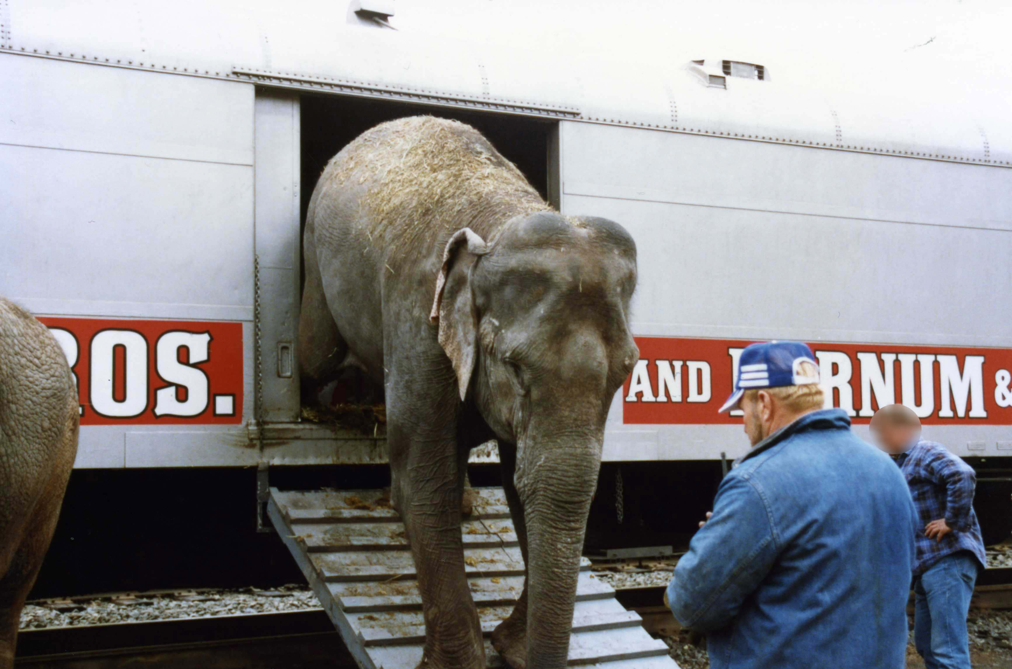
<svg viewBox="0 0 1012 669"><path fill-rule="evenodd" d="M457 400L452 393L433 398L431 390L417 386L410 392L410 386L416 384L392 394L398 386L388 383L387 438L394 503L407 528L425 616L419 667L486 669L481 624L465 574Z"/></svg>

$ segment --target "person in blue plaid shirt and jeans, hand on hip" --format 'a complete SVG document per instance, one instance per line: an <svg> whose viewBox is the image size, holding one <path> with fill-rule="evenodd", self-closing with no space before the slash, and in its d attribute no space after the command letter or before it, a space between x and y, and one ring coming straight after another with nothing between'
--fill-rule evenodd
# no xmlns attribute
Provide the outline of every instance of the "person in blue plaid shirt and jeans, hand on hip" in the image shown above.
<svg viewBox="0 0 1012 669"><path fill-rule="evenodd" d="M971 669L966 613L986 560L974 470L940 443L921 439L920 419L902 404L879 409L871 431L900 466L924 527L915 536L917 652L927 669Z"/></svg>

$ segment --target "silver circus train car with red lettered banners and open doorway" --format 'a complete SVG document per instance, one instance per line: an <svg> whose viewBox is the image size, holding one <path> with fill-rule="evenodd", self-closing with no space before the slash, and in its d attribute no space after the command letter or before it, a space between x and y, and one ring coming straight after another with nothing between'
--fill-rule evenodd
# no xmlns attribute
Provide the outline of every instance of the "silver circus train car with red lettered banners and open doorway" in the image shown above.
<svg viewBox="0 0 1012 669"><path fill-rule="evenodd" d="M385 462L382 432L300 419L302 211L344 142L420 111L637 240L642 359L605 461L743 453L716 408L773 338L812 343L859 431L902 401L956 453L1012 456L997 111L817 95L762 54L601 67L433 40L385 4L3 2L0 294L73 364L78 468Z"/></svg>

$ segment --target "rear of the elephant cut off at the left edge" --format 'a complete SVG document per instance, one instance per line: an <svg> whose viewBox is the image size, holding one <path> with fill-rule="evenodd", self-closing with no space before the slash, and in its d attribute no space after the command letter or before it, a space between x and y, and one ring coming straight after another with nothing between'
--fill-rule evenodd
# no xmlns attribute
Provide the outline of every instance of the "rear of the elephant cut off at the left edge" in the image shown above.
<svg viewBox="0 0 1012 669"><path fill-rule="evenodd" d="M45 325L0 298L0 669L14 666L24 598L77 453L78 399Z"/></svg>

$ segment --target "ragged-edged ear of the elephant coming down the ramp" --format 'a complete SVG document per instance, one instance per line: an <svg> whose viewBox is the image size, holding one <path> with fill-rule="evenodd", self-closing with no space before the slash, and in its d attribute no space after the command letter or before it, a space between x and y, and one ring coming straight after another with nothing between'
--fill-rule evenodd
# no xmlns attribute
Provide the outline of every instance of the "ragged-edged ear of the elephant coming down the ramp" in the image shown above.
<svg viewBox="0 0 1012 669"><path fill-rule="evenodd" d="M471 297L471 268L488 253L485 240L471 228L453 233L443 250L442 268L436 279L436 295L429 320L439 324L439 344L446 351L462 400L478 354L478 323Z"/></svg>

